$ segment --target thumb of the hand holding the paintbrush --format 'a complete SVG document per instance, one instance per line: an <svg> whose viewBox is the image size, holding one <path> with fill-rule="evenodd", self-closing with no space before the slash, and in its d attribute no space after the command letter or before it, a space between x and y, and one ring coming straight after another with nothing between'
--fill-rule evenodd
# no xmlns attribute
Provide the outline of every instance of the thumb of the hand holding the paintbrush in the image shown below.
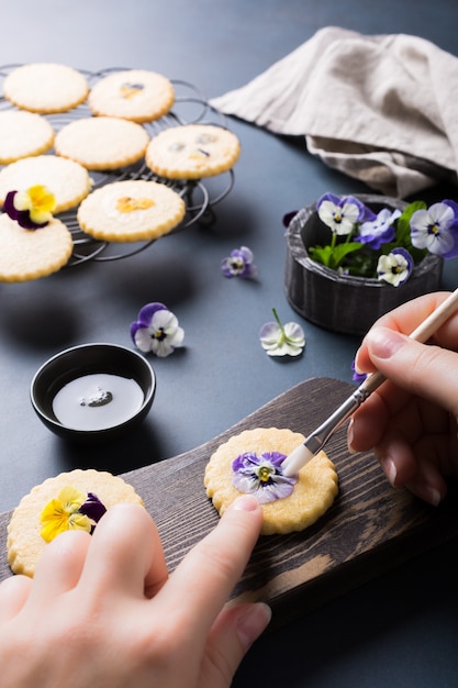
<svg viewBox="0 0 458 688"><path fill-rule="evenodd" d="M457 353L388 328L373 328L365 344L372 364L394 385L458 417Z"/></svg>

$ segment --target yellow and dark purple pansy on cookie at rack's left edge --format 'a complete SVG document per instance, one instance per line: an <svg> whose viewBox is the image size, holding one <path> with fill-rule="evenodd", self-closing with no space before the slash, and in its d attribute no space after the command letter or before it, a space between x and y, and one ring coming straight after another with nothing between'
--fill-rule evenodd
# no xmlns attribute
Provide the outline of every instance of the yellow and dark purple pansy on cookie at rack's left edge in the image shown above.
<svg viewBox="0 0 458 688"><path fill-rule="evenodd" d="M3 210L24 230L38 230L53 219L56 199L49 189L41 184L29 187L25 191L9 191Z"/></svg>

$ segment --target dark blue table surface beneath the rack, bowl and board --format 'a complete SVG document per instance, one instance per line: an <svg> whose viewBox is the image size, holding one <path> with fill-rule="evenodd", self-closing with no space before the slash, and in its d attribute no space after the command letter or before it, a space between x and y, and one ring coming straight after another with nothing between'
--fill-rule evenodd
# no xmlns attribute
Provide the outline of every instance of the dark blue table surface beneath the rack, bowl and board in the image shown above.
<svg viewBox="0 0 458 688"><path fill-rule="evenodd" d="M1 24L0 65L154 69L208 98L246 84L326 25L411 33L458 55L455 0L16 0L2 8ZM358 337L301 321L286 300L281 220L325 191L369 189L326 168L300 138L234 119L230 126L243 154L211 229L192 226L121 262L0 285L0 510L62 470L90 465L120 473L191 450L303 379L351 379ZM221 259L241 245L255 254L257 281L221 275ZM445 288L456 287L456 262L447 264ZM152 360L157 395L142 429L98 450L52 435L29 402L37 367L74 344L131 346L130 323L155 300L177 314L186 346ZM258 342L272 307L305 330L305 353L288 365L269 359ZM266 635L234 685L458 685L456 550L456 542L443 545Z"/></svg>

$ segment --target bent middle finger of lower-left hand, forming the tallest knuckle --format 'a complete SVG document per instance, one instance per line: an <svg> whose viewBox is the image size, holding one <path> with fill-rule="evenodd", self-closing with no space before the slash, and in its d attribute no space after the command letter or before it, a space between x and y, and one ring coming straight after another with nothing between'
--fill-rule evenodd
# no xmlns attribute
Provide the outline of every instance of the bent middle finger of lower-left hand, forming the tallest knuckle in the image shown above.
<svg viewBox="0 0 458 688"><path fill-rule="evenodd" d="M152 597L168 572L156 525L139 504L115 504L99 521L80 584L93 595Z"/></svg>

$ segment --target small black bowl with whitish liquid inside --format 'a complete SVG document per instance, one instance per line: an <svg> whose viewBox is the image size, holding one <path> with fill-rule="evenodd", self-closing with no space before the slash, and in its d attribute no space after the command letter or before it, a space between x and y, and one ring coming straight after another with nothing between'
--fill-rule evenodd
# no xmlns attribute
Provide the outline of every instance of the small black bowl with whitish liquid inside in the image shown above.
<svg viewBox="0 0 458 688"><path fill-rule="evenodd" d="M155 390L155 374L141 354L94 343L67 348L44 363L32 380L31 401L54 433L93 443L112 441L142 422Z"/></svg>

